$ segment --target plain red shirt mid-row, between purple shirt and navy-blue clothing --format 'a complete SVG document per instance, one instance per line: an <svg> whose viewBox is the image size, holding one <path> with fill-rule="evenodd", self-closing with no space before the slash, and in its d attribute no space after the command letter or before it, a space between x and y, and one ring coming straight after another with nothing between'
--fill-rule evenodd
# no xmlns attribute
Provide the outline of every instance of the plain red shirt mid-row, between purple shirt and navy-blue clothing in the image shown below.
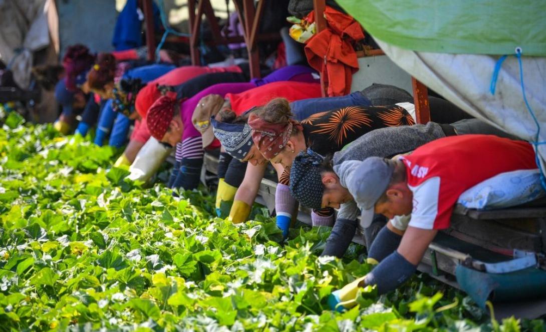
<svg viewBox="0 0 546 332"><path fill-rule="evenodd" d="M241 93L227 93L231 109L240 115L254 106L263 106L274 98L286 98L288 102L294 100L322 97L321 85L318 83L304 83L294 81L271 82Z"/></svg>

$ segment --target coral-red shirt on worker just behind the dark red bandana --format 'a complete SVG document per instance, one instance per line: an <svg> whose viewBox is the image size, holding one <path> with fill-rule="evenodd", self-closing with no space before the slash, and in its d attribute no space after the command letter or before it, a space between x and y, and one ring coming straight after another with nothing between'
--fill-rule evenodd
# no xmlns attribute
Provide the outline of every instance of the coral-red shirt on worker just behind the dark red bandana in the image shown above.
<svg viewBox="0 0 546 332"><path fill-rule="evenodd" d="M197 76L211 73L241 73L242 70L239 66L229 67L201 67L201 66L185 66L171 70L167 74L160 76L159 78L148 82L136 95L135 108L141 117L145 118L146 113L150 109L150 106L157 98L161 97L161 94L157 90L157 85L179 85L183 82L191 80Z"/></svg>

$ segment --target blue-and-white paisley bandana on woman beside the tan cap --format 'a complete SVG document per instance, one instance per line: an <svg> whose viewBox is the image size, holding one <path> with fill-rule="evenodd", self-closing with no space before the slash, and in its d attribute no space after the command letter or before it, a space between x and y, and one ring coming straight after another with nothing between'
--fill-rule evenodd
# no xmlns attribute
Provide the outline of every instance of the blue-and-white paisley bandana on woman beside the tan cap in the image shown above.
<svg viewBox="0 0 546 332"><path fill-rule="evenodd" d="M216 138L230 156L242 160L252 147L252 133L248 123L225 123L216 121L215 117L210 118L212 130Z"/></svg>

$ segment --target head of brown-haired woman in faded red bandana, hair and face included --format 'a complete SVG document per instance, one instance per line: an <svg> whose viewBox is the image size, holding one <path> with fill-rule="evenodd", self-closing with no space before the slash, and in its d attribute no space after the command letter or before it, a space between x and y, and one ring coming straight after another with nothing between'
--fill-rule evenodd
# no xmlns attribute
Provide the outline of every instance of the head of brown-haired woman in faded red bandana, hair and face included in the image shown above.
<svg viewBox="0 0 546 332"><path fill-rule="evenodd" d="M275 98L248 120L259 152L284 167L292 165L296 155L306 149L301 124L292 120L292 116L288 100Z"/></svg>

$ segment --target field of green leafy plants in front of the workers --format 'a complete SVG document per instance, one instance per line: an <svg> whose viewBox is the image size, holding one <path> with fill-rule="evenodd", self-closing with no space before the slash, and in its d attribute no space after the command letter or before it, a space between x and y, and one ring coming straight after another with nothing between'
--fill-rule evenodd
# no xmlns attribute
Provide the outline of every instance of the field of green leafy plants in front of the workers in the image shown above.
<svg viewBox="0 0 546 332"><path fill-rule="evenodd" d="M544 330L491 321L426 275L334 313L330 292L370 270L361 247L318 258L328 229L292 229L281 245L271 218L234 226L207 193L123 180L109 147L2 122L0 330Z"/></svg>

